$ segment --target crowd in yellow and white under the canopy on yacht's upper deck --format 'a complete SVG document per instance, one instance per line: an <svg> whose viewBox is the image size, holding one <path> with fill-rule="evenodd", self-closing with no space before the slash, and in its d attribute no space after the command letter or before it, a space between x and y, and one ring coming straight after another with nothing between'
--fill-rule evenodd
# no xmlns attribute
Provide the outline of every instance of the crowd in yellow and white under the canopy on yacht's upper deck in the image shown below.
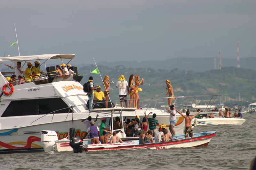
<svg viewBox="0 0 256 170"><path fill-rule="evenodd" d="M9 66L8 64L5 64L7 67L15 71L15 74L10 77L6 77L6 80L12 85L20 85L39 79L42 77L41 74L46 76L47 74L39 69L39 62L35 61L34 63L35 66L32 66L32 64L28 62L26 70L22 67L21 62L17 62L17 66ZM74 74L74 71L71 67L71 64L67 64L66 67L66 64L63 63L61 65L57 65L55 71L59 75L72 75ZM16 75L18 75L18 81L16 81Z"/></svg>

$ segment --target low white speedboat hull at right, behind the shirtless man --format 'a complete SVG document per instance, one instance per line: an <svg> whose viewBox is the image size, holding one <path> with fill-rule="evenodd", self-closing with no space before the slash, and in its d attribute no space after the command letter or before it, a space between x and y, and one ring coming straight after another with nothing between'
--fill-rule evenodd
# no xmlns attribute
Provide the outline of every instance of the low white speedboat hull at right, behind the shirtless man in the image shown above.
<svg viewBox="0 0 256 170"><path fill-rule="evenodd" d="M235 124L241 125L245 122L245 119L240 118L225 118L225 117L216 117L216 118L203 118L197 119L194 118L192 120L192 124L196 125L220 125L220 124Z"/></svg>

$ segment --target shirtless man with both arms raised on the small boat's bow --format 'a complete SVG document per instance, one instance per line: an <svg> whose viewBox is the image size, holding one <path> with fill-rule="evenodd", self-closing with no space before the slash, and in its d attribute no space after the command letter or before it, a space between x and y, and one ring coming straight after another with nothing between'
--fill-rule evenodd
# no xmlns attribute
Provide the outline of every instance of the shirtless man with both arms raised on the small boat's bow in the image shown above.
<svg viewBox="0 0 256 170"><path fill-rule="evenodd" d="M185 138L187 139L188 138L188 135L189 137L194 137L193 135L193 128L192 128L192 124L191 124L191 120L196 117L200 112L201 110L199 110L197 112L196 115L193 115L193 116L190 116L189 115L189 110L186 111L186 115L183 115L182 113L180 113L179 110L177 110L175 107L173 107L182 117L184 117L185 119L185 126L186 126L186 129L185 129Z"/></svg>

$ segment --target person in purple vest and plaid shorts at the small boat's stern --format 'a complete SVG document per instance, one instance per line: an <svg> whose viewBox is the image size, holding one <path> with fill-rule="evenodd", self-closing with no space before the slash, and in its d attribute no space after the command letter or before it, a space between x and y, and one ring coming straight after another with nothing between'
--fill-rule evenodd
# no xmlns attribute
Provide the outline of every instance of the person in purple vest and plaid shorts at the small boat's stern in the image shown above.
<svg viewBox="0 0 256 170"><path fill-rule="evenodd" d="M94 126L94 121L91 120L90 124L91 127L89 127L86 130L86 133L83 137L83 139L88 135L88 133L90 134L90 138L91 138L91 144L100 144L100 130L98 126Z"/></svg>

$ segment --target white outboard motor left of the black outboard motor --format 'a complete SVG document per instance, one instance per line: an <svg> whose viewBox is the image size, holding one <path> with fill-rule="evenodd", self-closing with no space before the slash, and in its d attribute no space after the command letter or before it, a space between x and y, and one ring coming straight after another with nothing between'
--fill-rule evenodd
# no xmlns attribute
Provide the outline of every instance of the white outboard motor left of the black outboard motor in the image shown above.
<svg viewBox="0 0 256 170"><path fill-rule="evenodd" d="M53 130L43 130L41 134L41 145L44 152L52 151L52 145L58 140L57 133Z"/></svg>

